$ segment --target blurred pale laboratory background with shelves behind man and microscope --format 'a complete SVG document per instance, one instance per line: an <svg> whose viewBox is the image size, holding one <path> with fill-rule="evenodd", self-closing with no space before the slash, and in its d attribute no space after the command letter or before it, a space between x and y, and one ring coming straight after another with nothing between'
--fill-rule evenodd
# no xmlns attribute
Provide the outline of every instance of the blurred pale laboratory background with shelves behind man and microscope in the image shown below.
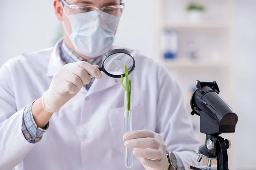
<svg viewBox="0 0 256 170"><path fill-rule="evenodd" d="M53 0L1 1L0 65L19 54L52 47L61 36ZM194 2L194 5L188 5ZM180 84L185 104L195 80L216 80L239 116L230 170L256 170L256 0L125 0L116 43L163 62ZM199 5L199 6L198 6ZM146 67L146 65L144 65ZM198 140L199 119L192 116Z"/></svg>

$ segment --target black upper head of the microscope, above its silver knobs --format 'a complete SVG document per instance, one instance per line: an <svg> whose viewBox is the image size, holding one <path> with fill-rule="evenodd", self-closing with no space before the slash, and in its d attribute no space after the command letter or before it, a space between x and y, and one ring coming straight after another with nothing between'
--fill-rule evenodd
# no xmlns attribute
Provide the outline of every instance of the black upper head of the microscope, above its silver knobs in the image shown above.
<svg viewBox="0 0 256 170"><path fill-rule="evenodd" d="M234 133L238 116L219 95L217 83L196 81L196 87L190 105L191 114L200 116L200 132L208 135Z"/></svg>

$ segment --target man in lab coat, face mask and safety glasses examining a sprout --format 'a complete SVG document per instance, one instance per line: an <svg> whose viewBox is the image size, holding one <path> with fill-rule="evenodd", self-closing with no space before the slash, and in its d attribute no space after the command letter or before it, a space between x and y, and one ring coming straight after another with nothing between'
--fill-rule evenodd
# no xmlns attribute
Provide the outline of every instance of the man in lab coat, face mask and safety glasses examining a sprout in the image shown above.
<svg viewBox="0 0 256 170"><path fill-rule="evenodd" d="M102 74L115 48L120 0L54 0L64 38L0 70L0 170L189 170L195 140L180 89L153 59L134 54L133 130L124 134L120 79ZM99 10L100 9L100 10ZM166 156L167 155L167 156Z"/></svg>

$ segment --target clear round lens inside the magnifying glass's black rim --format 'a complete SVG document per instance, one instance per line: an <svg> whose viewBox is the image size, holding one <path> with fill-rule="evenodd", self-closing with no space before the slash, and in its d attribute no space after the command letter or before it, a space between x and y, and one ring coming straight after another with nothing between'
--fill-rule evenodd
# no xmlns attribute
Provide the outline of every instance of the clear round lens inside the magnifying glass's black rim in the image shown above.
<svg viewBox="0 0 256 170"><path fill-rule="evenodd" d="M121 76L122 74L125 74L124 64L126 65L127 70L130 71L134 65L133 58L127 54L116 53L105 59L104 68L109 74Z"/></svg>

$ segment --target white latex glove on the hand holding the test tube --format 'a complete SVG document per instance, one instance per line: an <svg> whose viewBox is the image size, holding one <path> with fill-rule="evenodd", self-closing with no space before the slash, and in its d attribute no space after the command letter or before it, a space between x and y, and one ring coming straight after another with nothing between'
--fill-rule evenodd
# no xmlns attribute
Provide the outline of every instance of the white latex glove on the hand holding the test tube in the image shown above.
<svg viewBox="0 0 256 170"><path fill-rule="evenodd" d="M133 154L140 159L145 170L168 170L166 145L162 137L150 130L125 133L125 147L134 148Z"/></svg>

